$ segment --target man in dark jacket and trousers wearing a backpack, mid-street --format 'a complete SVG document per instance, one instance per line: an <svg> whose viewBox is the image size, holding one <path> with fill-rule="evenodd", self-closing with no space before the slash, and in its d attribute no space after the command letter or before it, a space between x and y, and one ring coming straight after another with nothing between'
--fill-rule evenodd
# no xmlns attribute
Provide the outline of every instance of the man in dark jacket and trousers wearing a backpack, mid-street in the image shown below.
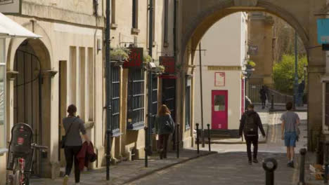
<svg viewBox="0 0 329 185"><path fill-rule="evenodd" d="M258 128L261 130L263 137L265 137L265 131L262 125L262 121L254 111L254 105L250 104L248 110L243 114L240 121L239 135L242 137L245 135L245 143L247 144L247 156L249 164L252 162L258 163L257 151L258 151ZM254 146L254 155L252 160L251 144Z"/></svg>

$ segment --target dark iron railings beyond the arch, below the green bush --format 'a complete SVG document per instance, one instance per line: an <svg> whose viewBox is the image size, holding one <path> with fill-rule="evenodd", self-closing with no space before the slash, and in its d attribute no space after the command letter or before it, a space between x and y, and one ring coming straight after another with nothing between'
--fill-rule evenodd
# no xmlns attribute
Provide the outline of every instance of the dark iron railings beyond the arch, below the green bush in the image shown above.
<svg viewBox="0 0 329 185"><path fill-rule="evenodd" d="M250 98L253 104L261 103L259 90L262 89L262 85L249 85L247 96ZM274 104L285 104L287 102L293 101L292 95L285 95L278 92L277 90L268 89L267 100L269 103L272 99L272 94L274 95Z"/></svg>

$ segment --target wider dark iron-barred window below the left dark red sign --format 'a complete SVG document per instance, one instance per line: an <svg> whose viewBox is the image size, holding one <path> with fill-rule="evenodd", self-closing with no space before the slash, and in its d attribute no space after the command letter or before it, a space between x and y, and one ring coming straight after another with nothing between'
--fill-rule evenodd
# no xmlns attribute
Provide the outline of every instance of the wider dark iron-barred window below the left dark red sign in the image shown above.
<svg viewBox="0 0 329 185"><path fill-rule="evenodd" d="M127 129L139 130L144 127L144 71L129 69Z"/></svg>

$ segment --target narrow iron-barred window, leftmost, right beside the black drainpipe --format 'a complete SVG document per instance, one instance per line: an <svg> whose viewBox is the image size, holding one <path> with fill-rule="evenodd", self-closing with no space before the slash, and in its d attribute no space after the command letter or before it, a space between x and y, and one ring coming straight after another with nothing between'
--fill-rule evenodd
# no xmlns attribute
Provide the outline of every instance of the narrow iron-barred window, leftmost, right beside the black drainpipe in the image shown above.
<svg viewBox="0 0 329 185"><path fill-rule="evenodd" d="M112 67L112 135L120 135L120 67Z"/></svg>

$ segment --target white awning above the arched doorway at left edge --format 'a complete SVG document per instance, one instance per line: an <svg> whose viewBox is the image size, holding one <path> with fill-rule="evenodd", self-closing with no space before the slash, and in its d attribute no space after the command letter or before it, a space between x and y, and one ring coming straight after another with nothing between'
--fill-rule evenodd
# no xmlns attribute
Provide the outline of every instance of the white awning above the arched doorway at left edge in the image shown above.
<svg viewBox="0 0 329 185"><path fill-rule="evenodd" d="M0 38L6 37L41 38L41 36L30 32L25 27L0 13Z"/></svg>

